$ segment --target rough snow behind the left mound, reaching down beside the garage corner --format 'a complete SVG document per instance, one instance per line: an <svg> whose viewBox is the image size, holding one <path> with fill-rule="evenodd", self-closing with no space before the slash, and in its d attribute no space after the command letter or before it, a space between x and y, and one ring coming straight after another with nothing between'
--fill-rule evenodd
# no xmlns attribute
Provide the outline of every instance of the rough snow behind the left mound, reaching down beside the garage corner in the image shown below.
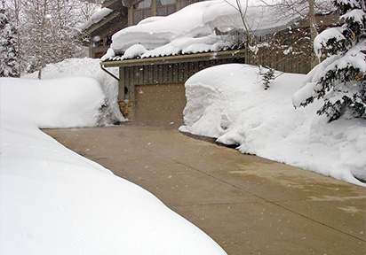
<svg viewBox="0 0 366 255"><path fill-rule="evenodd" d="M118 75L118 68L108 69L109 72ZM38 73L31 73L22 76L26 79L36 79ZM118 81L103 72L99 66L99 59L93 58L70 58L57 64L49 64L42 71L43 79L59 79L65 77L90 77L99 81L104 94L106 95L107 109L102 116L102 125L123 122L122 113L118 105Z"/></svg>

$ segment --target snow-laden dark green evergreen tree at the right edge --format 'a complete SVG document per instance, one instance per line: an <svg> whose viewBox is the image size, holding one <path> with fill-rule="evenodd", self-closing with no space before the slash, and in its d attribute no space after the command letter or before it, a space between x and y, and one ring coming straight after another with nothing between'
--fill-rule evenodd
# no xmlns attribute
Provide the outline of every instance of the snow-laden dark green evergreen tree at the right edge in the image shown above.
<svg viewBox="0 0 366 255"><path fill-rule="evenodd" d="M366 5L364 0L333 0L342 27L315 38L318 58L326 58L308 73L307 84L294 95L296 106L324 98L318 114L332 120L342 115L366 119Z"/></svg>

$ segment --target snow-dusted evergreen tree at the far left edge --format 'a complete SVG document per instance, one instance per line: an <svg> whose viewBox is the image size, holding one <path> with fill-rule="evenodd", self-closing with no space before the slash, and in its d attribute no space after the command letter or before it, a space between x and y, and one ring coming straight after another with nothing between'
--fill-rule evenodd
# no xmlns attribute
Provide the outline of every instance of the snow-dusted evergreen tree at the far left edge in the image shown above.
<svg viewBox="0 0 366 255"><path fill-rule="evenodd" d="M16 38L16 26L3 1L0 5L0 77L19 77Z"/></svg>

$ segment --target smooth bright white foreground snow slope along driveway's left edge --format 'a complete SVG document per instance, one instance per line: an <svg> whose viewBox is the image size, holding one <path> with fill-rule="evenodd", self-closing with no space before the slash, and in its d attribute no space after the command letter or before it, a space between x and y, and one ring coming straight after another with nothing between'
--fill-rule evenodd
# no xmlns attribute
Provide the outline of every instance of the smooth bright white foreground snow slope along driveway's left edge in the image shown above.
<svg viewBox="0 0 366 255"><path fill-rule="evenodd" d="M145 189L1 118L1 254L226 254Z"/></svg>

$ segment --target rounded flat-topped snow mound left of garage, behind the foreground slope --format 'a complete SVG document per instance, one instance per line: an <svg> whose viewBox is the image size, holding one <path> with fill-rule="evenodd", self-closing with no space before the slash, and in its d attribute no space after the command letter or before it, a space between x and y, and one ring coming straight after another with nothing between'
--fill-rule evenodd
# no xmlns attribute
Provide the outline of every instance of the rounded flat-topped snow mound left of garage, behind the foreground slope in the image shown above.
<svg viewBox="0 0 366 255"><path fill-rule="evenodd" d="M95 127L105 96L91 78L33 81L0 79L0 114L16 116L38 128Z"/></svg>

